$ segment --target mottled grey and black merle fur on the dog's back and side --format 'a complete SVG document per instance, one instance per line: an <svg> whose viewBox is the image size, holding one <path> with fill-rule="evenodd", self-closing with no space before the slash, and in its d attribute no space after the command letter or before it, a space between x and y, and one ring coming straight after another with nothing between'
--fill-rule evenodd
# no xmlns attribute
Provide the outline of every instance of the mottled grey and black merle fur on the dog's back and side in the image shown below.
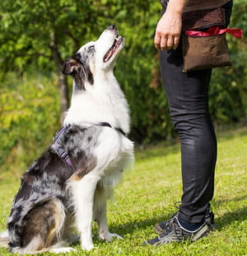
<svg viewBox="0 0 247 256"><path fill-rule="evenodd" d="M96 166L93 149L101 129L101 126L69 126L63 133L63 149L68 152L77 171L58 156L54 145L50 145L24 173L7 223L11 247L25 247L29 244L30 240L22 239L28 228L26 216L51 198L63 201L66 209L73 212L66 182L72 175L82 178Z"/></svg>

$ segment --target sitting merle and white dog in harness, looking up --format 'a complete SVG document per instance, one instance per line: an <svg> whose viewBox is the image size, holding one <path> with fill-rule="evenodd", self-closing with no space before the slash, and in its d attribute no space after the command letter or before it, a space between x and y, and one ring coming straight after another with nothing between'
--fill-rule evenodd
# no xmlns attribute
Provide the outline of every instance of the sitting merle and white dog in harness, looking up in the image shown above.
<svg viewBox="0 0 247 256"><path fill-rule="evenodd" d="M82 249L93 248L91 225L110 241L106 201L124 168L133 162L128 104L114 77L124 40L110 26L96 41L67 59L63 73L73 78L71 107L54 143L21 178L2 241L13 253L63 253L72 248L72 223Z"/></svg>

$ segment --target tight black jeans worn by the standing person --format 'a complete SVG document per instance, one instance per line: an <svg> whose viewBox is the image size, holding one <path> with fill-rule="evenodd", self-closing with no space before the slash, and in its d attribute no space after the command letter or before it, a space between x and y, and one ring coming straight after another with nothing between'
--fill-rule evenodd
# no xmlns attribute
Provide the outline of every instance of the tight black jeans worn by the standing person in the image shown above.
<svg viewBox="0 0 247 256"><path fill-rule="evenodd" d="M228 24L232 2L224 7ZM179 43L176 50L161 51L161 77L171 120L181 144L183 196L179 218L200 223L213 197L217 161L217 138L208 110L207 93L212 69L183 73L181 46Z"/></svg>

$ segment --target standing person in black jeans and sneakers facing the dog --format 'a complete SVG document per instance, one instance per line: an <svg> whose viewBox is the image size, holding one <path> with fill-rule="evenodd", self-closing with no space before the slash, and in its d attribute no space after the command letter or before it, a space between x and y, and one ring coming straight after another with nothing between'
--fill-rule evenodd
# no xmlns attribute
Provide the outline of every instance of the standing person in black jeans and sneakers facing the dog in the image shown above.
<svg viewBox="0 0 247 256"><path fill-rule="evenodd" d="M163 15L156 26L154 44L161 50L161 77L170 116L179 134L183 195L179 211L155 225L160 234L143 244L169 244L200 239L212 230L210 201L214 191L217 138L208 110L208 86L212 69L183 73L180 40L182 14L223 7L227 26L231 17L230 0L161 0Z"/></svg>

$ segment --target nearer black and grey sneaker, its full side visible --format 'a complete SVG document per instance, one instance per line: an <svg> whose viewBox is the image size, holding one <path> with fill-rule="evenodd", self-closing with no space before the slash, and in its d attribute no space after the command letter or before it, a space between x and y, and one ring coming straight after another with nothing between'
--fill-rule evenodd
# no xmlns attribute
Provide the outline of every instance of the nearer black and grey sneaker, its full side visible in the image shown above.
<svg viewBox="0 0 247 256"><path fill-rule="evenodd" d="M166 221L165 229L161 235L157 236L154 239L149 239L145 241L142 245L151 244L151 245L161 245L161 244L170 244L172 242L181 243L185 240L191 242L198 240L209 233L212 232L212 223L209 218L201 225L197 230L189 231L185 230L178 220L178 214Z"/></svg>

